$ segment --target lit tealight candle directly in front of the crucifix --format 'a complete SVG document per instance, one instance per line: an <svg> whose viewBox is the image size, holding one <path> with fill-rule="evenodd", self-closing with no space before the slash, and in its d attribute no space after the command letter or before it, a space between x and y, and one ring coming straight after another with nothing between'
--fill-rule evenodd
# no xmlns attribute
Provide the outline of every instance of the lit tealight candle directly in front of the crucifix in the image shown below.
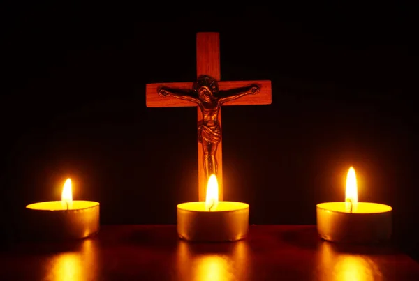
<svg viewBox="0 0 419 281"><path fill-rule="evenodd" d="M249 231L249 204L218 201L216 176L210 176L205 202L177 205L177 234L189 241L237 241Z"/></svg>

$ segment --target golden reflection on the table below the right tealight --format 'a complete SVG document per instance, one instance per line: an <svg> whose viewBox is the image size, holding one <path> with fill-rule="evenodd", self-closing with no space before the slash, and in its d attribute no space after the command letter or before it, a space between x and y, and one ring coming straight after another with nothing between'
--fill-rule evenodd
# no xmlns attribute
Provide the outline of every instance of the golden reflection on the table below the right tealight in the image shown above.
<svg viewBox="0 0 419 281"><path fill-rule="evenodd" d="M318 250L318 276L331 281L380 281L383 274L366 255L336 252L332 243L324 242Z"/></svg>

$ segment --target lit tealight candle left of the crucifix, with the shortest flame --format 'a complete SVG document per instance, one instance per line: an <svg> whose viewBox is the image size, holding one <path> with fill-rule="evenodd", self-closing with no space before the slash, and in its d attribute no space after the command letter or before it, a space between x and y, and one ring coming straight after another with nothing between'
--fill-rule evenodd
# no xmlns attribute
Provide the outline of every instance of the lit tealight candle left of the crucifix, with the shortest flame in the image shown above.
<svg viewBox="0 0 419 281"><path fill-rule="evenodd" d="M71 179L64 183L61 201L29 204L27 213L29 231L34 238L80 239L99 231L99 203L73 201Z"/></svg>

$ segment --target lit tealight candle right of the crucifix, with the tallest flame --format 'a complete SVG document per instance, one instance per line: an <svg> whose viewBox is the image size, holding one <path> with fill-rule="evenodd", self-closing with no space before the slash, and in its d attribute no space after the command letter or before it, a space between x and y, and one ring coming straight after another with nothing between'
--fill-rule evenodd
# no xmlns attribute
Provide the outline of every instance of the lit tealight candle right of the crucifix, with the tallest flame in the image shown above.
<svg viewBox="0 0 419 281"><path fill-rule="evenodd" d="M345 202L317 204L317 231L321 238L346 243L379 243L392 233L392 208L358 202L355 169L346 177Z"/></svg>

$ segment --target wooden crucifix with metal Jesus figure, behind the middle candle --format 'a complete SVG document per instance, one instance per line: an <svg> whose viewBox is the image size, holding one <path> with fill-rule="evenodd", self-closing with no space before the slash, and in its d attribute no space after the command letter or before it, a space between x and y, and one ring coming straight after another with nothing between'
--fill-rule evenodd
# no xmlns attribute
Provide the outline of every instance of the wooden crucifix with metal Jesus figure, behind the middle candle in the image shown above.
<svg viewBox="0 0 419 281"><path fill-rule="evenodd" d="M220 81L219 33L196 34L195 82L147 84L147 107L198 107L198 196L216 174L223 200L221 105L270 105L270 81Z"/></svg>

